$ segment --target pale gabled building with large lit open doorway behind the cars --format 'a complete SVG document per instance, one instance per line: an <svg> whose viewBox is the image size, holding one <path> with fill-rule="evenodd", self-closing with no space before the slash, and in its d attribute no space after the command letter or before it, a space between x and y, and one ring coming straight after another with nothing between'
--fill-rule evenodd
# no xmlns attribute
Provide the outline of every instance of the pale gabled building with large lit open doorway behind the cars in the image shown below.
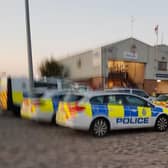
<svg viewBox="0 0 168 168"><path fill-rule="evenodd" d="M168 93L168 46L128 38L60 60L70 79L92 88L137 87Z"/></svg>

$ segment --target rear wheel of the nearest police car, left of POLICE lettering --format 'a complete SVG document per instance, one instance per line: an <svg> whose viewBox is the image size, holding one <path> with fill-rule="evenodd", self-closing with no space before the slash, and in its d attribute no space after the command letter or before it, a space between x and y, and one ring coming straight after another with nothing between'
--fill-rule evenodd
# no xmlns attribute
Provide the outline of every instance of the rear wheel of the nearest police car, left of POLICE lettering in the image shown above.
<svg viewBox="0 0 168 168"><path fill-rule="evenodd" d="M97 118L93 121L90 131L96 137L106 136L109 132L109 122L105 118Z"/></svg>

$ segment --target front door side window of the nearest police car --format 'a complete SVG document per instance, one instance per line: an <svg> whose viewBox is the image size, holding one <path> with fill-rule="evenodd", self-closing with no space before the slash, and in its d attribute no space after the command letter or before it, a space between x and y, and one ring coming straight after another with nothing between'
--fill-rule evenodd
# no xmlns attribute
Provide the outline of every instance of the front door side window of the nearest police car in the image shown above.
<svg viewBox="0 0 168 168"><path fill-rule="evenodd" d="M145 100L135 96L126 96L126 101L127 101L127 104L131 106L143 106L143 107L148 106Z"/></svg>

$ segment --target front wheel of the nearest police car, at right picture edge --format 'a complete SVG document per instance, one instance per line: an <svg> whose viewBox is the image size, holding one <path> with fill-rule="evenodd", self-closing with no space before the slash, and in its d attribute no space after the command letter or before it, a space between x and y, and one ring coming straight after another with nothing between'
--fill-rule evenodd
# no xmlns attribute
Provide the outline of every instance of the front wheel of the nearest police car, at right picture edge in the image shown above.
<svg viewBox="0 0 168 168"><path fill-rule="evenodd" d="M166 115L161 115L156 121L155 128L157 131L163 132L168 128L168 117Z"/></svg>

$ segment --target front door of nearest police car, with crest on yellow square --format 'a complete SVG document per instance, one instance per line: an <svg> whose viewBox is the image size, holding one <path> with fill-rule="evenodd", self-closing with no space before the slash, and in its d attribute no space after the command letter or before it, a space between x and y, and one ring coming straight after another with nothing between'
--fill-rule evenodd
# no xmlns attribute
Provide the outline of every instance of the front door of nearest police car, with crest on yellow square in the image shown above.
<svg viewBox="0 0 168 168"><path fill-rule="evenodd" d="M151 107L148 101L133 95L125 95L125 123L132 128L151 126ZM127 114L128 112L128 114Z"/></svg>

